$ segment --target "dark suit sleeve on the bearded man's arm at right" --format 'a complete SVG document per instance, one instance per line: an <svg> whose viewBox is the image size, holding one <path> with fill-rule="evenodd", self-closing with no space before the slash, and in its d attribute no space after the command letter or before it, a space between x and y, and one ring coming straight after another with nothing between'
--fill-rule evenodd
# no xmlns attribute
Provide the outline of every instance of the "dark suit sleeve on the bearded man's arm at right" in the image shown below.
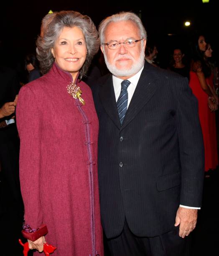
<svg viewBox="0 0 219 256"><path fill-rule="evenodd" d="M180 204L200 207L204 181L204 144L197 100L187 79L181 83L176 118L181 161Z"/></svg>

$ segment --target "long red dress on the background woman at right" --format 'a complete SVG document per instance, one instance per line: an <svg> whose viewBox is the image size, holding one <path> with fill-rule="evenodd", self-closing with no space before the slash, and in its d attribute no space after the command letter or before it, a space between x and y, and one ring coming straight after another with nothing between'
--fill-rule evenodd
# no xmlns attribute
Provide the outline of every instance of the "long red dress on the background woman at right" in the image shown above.
<svg viewBox="0 0 219 256"><path fill-rule="evenodd" d="M213 80L212 84L210 80L211 77L206 79L206 82L212 86ZM199 104L199 120L205 151L205 171L207 172L209 169L216 169L218 165L215 113L209 109L208 95L202 90L196 72L190 72L189 86Z"/></svg>

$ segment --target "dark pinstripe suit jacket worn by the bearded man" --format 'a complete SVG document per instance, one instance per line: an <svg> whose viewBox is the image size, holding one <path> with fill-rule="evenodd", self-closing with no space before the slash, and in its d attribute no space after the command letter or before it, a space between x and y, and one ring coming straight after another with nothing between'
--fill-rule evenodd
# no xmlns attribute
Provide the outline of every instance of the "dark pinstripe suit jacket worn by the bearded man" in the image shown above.
<svg viewBox="0 0 219 256"><path fill-rule="evenodd" d="M173 230L179 205L200 207L202 198L204 149L188 80L146 62L122 126L112 75L93 92L107 238L122 232L125 218L137 236Z"/></svg>

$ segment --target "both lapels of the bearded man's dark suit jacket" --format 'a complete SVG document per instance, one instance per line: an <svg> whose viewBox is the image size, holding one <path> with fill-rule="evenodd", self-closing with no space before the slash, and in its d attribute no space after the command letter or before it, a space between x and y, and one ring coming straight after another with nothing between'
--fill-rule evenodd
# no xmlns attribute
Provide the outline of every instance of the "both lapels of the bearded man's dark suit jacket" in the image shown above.
<svg viewBox="0 0 219 256"><path fill-rule="evenodd" d="M153 67L145 61L144 69L140 75L140 79L135 88L135 92L127 109L122 126L120 125L117 111L115 92L112 84L112 75L110 75L110 77L105 81L100 89L99 97L102 101L104 109L118 129L122 130L125 128L127 124L130 123L133 118L135 118L144 105L148 103L159 87L159 83L156 82L158 78L158 68Z"/></svg>

